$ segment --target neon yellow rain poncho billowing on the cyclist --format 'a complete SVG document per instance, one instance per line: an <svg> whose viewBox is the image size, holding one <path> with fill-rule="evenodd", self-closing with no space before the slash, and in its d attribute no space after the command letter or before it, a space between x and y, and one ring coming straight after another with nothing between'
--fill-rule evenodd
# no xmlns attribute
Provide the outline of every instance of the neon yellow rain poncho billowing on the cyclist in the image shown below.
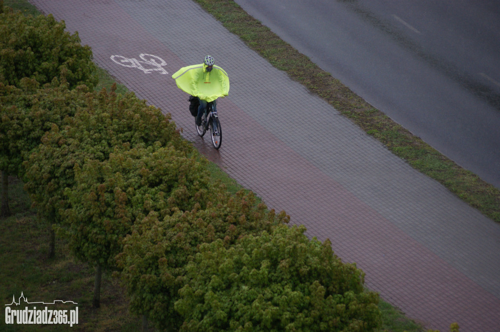
<svg viewBox="0 0 500 332"><path fill-rule="evenodd" d="M216 65L211 71L206 71L204 63L182 67L172 78L179 89L207 102L229 93L229 77L224 69Z"/></svg>

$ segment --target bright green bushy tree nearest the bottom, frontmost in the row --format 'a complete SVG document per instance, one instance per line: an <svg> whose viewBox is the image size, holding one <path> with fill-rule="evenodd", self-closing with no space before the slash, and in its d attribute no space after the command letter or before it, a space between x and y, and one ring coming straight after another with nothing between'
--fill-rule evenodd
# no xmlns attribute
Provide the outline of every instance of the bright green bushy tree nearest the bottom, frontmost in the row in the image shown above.
<svg viewBox="0 0 500 332"><path fill-rule="evenodd" d="M376 331L378 295L363 290L364 274L304 231L201 245L175 302L180 331Z"/></svg>

